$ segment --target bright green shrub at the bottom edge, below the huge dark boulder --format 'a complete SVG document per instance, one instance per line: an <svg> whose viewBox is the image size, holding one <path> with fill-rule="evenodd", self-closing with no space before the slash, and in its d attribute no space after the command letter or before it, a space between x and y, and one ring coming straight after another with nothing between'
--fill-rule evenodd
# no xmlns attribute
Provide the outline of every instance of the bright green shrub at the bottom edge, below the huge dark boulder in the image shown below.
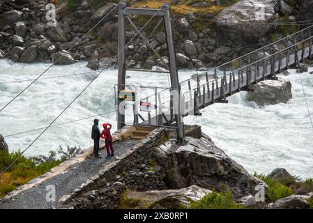
<svg viewBox="0 0 313 223"><path fill-rule="evenodd" d="M242 209L233 199L232 193L221 192L220 194L213 191L206 194L199 201L191 201L190 209Z"/></svg>

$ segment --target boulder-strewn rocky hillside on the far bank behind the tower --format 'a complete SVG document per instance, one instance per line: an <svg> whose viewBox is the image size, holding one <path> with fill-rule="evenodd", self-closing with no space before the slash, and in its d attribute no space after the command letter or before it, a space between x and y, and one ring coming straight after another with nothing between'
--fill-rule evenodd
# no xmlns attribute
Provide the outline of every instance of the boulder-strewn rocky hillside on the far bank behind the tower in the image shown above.
<svg viewBox="0 0 313 223"><path fill-rule="evenodd" d="M216 66L269 43L271 34L294 31L288 26L270 26L270 22L294 22L313 19L313 1L275 0L247 1L170 1L174 15L174 40L179 68ZM45 6L56 5L56 21L47 21ZM89 61L89 68L114 66L117 54L116 10L91 31L84 40L79 38L116 6L117 1L94 0L1 0L0 1L0 58L32 63L35 61L70 64ZM135 1L131 6L158 8L165 1ZM257 19L259 4L265 16ZM143 25L146 17L133 17ZM147 26L146 36L157 21ZM134 31L127 32L128 39ZM168 63L165 33L158 29L148 38L155 50ZM128 67L148 68L164 66L152 50L136 39L128 46Z"/></svg>

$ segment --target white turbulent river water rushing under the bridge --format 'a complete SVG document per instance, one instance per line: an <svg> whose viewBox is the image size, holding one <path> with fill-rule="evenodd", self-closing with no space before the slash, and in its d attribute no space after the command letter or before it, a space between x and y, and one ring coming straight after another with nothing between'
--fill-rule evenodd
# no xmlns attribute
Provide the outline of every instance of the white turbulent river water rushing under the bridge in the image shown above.
<svg viewBox="0 0 313 223"><path fill-rule="evenodd" d="M49 65L26 65L0 60L0 107L6 105L17 93ZM43 77L72 75L90 72L86 63L71 66L54 66ZM313 68L310 68L309 72ZM228 104L215 104L201 110L202 116L188 116L185 123L197 123L215 144L250 172L268 174L275 167L287 168L291 174L302 178L313 177L313 129L305 105L300 76L294 70L291 75L281 76L293 85L293 98L287 104L258 107L245 101L245 92L228 98ZM97 73L41 79L27 89L17 100L0 113L0 133L6 136L10 151L28 146L40 131L17 134L43 128L84 89ZM180 79L194 74L181 70ZM127 84L168 86L167 75L160 73L128 72ZM307 103L313 114L313 75L303 73L303 86ZM10 82L4 83L3 82ZM114 110L114 84L117 71L107 70L96 79L81 97L56 121L64 123L79 118L111 112L98 117L100 123L109 122L116 128ZM36 141L26 155L47 154L59 146L91 146L93 118L49 128ZM13 136L8 136L14 134Z"/></svg>

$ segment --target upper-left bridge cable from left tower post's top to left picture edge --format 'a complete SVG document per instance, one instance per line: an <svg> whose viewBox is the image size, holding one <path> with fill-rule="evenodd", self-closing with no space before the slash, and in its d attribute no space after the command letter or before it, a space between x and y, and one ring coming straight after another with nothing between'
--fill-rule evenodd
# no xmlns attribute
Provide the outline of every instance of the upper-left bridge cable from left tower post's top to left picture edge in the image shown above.
<svg viewBox="0 0 313 223"><path fill-rule="evenodd" d="M72 47L70 47L70 49L68 49L68 51L70 52L70 50L72 48L74 48L76 45L78 45L82 39L84 39L87 35L89 35L89 33L91 33L91 31L93 31L93 29L96 28L96 26L98 26L98 24L100 24L103 20L105 20L105 18L110 15L111 13L113 13L113 11L119 6L120 3L116 4L116 6L114 6L114 8L112 8L112 10L109 11L109 13L107 13L107 15L105 15L104 17L102 17L102 19L95 24L86 34L84 34L84 36L82 36L82 38L80 38L74 45L72 45ZM8 105L10 105L10 103L12 103L16 98L18 98L22 93L24 93L24 91L26 91L26 89L29 89L29 87L35 83L41 76L43 76L50 68L52 68L57 62L59 62L61 59L63 58L63 55L61 55L59 57L59 59L56 59L56 61L54 61L54 63L52 63L51 66L49 66L44 72L42 72L38 77L36 77L36 79L33 79L33 81L26 86L26 88L24 88L22 91L20 91L20 93L18 93L12 100L10 100L4 107L2 107L0 109L0 112L3 111L3 109L5 109L6 107L8 107Z"/></svg>

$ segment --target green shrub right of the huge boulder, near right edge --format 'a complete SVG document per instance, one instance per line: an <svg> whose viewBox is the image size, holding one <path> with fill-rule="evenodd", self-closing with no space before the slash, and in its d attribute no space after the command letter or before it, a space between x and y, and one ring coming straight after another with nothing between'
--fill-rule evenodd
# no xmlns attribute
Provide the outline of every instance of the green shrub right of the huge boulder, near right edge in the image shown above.
<svg viewBox="0 0 313 223"><path fill-rule="evenodd" d="M282 185L282 183L279 183L277 180L270 178L270 176L265 176L263 174L258 175L256 173L254 173L254 176L264 180L264 182L268 185L267 196L270 201L276 201L277 199L289 197L294 194L293 190L285 185Z"/></svg>

